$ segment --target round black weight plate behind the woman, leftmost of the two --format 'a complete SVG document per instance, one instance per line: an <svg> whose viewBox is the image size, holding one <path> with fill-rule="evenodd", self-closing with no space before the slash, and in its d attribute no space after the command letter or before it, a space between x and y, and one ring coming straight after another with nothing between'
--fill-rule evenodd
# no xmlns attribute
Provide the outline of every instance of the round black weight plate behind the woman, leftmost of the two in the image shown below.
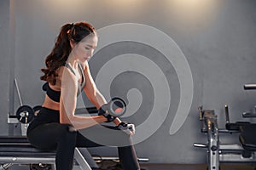
<svg viewBox="0 0 256 170"><path fill-rule="evenodd" d="M34 110L28 105L22 105L16 111L18 121L22 123L32 122L34 118Z"/></svg>

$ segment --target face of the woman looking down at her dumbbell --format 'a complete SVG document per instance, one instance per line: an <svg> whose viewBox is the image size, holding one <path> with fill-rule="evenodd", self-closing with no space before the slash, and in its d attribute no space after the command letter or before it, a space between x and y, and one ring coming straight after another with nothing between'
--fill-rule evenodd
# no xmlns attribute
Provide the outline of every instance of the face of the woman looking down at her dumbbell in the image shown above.
<svg viewBox="0 0 256 170"><path fill-rule="evenodd" d="M87 37L84 37L80 42L73 44L73 54L76 59L79 59L80 62L85 62L90 59L93 55L93 52L97 46L98 37L95 34L90 34Z"/></svg>

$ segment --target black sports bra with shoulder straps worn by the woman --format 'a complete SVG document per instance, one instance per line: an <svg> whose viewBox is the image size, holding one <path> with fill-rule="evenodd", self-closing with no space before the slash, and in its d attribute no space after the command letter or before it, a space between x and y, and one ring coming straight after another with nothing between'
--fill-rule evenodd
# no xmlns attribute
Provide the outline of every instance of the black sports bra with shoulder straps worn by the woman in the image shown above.
<svg viewBox="0 0 256 170"><path fill-rule="evenodd" d="M66 63L65 66L73 72L73 74L75 75L75 72L73 71L73 68ZM82 74L82 83L79 83L79 90L78 90L78 94L79 95L81 93L81 91L83 90L84 86L85 86L85 77L84 77L84 69L83 66L79 63L79 71ZM61 91L56 91L53 90L52 88L49 87L49 82L45 82L43 85L43 90L46 92L46 94L49 96L49 99L54 100L55 102L60 102L61 99Z"/></svg>

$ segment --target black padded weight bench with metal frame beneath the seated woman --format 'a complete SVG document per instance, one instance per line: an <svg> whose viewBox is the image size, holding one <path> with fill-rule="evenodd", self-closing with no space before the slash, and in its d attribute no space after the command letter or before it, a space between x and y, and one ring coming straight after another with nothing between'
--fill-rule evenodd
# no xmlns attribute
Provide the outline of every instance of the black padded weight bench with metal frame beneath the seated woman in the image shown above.
<svg viewBox="0 0 256 170"><path fill-rule="evenodd" d="M74 161L82 170L91 170L79 148L75 149ZM28 142L26 136L0 137L0 170L8 169L13 164L38 164L40 170L55 170L55 151L38 150ZM48 165L48 166L46 166ZM45 166L45 167L44 167Z"/></svg>

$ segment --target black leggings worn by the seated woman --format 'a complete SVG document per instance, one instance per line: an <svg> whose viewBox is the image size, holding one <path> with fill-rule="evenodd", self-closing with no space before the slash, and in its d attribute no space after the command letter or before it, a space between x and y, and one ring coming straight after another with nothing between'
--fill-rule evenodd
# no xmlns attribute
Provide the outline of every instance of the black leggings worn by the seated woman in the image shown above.
<svg viewBox="0 0 256 170"><path fill-rule="evenodd" d="M39 115L43 115L45 113L43 112L44 111L40 111ZM31 144L35 145L41 150L56 150L55 164L57 170L71 170L73 168L73 154L75 147L102 146L102 144L97 144L90 139L85 138L80 132L74 131L73 128L68 124L61 124L59 122L45 122L36 126L35 124L42 122L42 120L40 121L40 116L38 119L39 121L37 119L34 120L31 123L32 126L28 128L27 138ZM89 127L86 130L90 131L91 129ZM123 137L124 136L127 137L125 139L126 142L129 142L130 144L118 147L121 165L125 170L140 169L137 162L137 155L134 147L131 145L130 136L126 134L123 135ZM104 140L104 135L101 137L102 140Z"/></svg>

